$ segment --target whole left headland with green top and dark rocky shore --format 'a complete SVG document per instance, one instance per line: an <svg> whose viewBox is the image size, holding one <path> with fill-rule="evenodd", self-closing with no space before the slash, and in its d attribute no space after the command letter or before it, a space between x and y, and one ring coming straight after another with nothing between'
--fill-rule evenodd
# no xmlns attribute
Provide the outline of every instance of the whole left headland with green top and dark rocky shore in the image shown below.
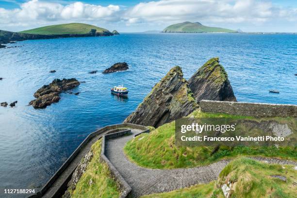
<svg viewBox="0 0 297 198"><path fill-rule="evenodd" d="M21 32L0 30L0 44L12 41L66 37L112 36L107 29L84 23L50 25Z"/></svg>

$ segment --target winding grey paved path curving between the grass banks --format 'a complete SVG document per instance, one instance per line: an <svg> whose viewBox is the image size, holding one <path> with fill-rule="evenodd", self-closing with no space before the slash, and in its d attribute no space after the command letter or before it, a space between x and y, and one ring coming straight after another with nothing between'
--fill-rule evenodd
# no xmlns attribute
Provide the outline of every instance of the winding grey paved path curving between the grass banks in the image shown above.
<svg viewBox="0 0 297 198"><path fill-rule="evenodd" d="M105 155L132 188L132 197L168 192L189 187L198 183L208 183L218 178L221 170L230 160L221 160L211 165L193 168L149 169L132 163L124 154L124 146L140 130L132 129L132 134L109 139L105 146ZM296 162L255 157L267 163L295 164Z"/></svg>

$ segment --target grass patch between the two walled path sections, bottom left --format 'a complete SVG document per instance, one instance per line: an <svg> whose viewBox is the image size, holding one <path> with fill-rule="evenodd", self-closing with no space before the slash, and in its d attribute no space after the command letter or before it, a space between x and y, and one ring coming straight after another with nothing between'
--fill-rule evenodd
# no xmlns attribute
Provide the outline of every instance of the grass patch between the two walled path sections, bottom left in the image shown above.
<svg viewBox="0 0 297 198"><path fill-rule="evenodd" d="M100 161L102 140L92 145L93 158L87 166L74 191L70 190L71 198L118 198L119 184L113 179L108 166ZM89 182L93 181L90 185Z"/></svg>

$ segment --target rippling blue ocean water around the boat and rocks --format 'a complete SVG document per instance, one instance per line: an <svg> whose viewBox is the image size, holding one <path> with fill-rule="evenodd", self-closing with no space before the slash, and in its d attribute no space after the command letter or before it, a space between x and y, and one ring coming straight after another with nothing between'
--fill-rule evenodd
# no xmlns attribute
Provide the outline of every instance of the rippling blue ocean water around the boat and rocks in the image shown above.
<svg viewBox="0 0 297 198"><path fill-rule="evenodd" d="M189 79L219 57L239 101L297 104L297 35L123 33L8 46L20 45L0 49L0 102L18 101L16 108L0 107L0 197L27 196L2 194L7 188L38 191L89 133L123 122L176 65ZM129 70L101 73L116 62ZM55 78L85 82L73 91L78 96L62 93L46 109L27 106ZM128 99L111 95L119 84L130 89Z"/></svg>

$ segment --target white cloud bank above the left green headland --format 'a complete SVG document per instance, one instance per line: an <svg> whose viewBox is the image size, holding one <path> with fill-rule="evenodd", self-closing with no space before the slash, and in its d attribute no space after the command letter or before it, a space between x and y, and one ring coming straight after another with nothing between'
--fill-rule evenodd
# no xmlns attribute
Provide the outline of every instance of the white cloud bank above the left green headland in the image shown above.
<svg viewBox="0 0 297 198"><path fill-rule="evenodd" d="M0 8L0 23L17 24L23 22L32 24L71 19L107 19L119 10L120 7L117 5L103 7L74 2L64 6L55 2L30 0L21 4L19 9L6 10Z"/></svg>

